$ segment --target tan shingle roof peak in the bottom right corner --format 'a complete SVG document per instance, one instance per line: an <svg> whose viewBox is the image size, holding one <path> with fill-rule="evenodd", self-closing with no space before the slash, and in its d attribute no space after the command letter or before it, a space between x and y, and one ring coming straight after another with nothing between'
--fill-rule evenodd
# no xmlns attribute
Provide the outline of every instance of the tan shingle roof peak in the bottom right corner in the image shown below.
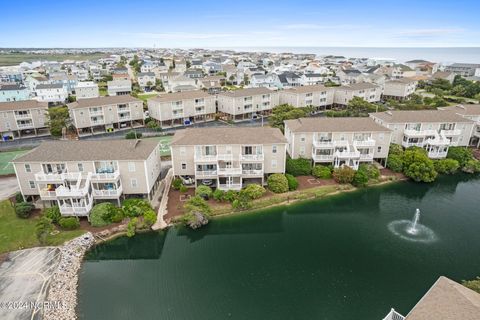
<svg viewBox="0 0 480 320"><path fill-rule="evenodd" d="M405 320L478 320L480 294L446 277L438 278Z"/></svg>

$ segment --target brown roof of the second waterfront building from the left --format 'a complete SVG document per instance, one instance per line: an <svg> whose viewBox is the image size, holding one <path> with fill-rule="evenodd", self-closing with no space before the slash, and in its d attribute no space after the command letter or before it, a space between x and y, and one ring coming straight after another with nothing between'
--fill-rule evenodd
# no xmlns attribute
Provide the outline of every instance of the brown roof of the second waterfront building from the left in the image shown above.
<svg viewBox="0 0 480 320"><path fill-rule="evenodd" d="M282 132L270 127L189 128L178 130L172 145L287 143Z"/></svg>

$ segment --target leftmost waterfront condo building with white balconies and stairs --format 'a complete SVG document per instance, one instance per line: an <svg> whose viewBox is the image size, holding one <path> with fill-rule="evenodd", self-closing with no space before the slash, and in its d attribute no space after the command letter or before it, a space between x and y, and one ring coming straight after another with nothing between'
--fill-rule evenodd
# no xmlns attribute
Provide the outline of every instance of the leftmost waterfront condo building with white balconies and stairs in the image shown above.
<svg viewBox="0 0 480 320"><path fill-rule="evenodd" d="M151 200L161 169L158 142L149 140L43 142L13 166L24 199L65 216L88 216L94 202Z"/></svg>

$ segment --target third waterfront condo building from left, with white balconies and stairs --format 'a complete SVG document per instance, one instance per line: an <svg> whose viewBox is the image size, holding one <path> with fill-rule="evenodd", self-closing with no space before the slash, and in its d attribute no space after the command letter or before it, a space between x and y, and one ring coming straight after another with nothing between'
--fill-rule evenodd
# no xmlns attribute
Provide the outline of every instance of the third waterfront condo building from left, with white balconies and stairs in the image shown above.
<svg viewBox="0 0 480 320"><path fill-rule="evenodd" d="M300 118L285 121L285 137L293 159L356 170L388 157L391 132L370 118Z"/></svg>

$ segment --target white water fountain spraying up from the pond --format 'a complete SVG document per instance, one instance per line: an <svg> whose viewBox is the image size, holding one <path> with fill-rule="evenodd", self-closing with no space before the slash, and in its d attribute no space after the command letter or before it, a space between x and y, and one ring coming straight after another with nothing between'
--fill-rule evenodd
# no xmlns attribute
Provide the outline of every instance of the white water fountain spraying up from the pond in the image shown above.
<svg viewBox="0 0 480 320"><path fill-rule="evenodd" d="M437 239L432 229L420 222L420 209L415 210L412 220L395 220L388 229L396 236L409 241L433 242Z"/></svg>

